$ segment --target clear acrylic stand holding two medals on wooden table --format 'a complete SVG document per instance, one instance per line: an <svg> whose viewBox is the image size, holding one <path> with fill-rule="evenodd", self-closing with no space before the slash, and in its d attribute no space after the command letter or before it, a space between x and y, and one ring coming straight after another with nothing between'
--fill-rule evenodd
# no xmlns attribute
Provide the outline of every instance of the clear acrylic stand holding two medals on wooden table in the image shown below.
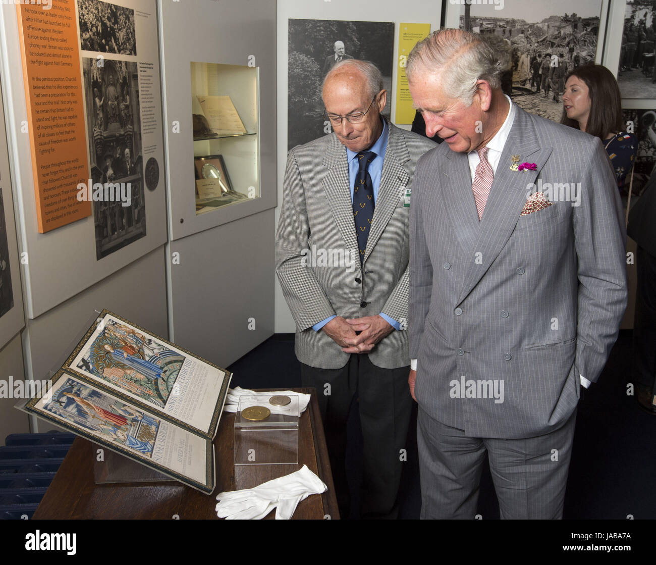
<svg viewBox="0 0 656 565"><path fill-rule="evenodd" d="M298 396L240 396L235 415L235 465L298 463Z"/></svg>

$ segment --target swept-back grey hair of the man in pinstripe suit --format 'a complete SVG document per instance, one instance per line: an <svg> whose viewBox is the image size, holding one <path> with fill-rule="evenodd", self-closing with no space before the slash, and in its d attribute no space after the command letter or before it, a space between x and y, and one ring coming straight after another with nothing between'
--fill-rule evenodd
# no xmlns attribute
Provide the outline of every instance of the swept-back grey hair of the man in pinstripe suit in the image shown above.
<svg viewBox="0 0 656 565"><path fill-rule="evenodd" d="M469 106L479 80L501 89L501 75L508 68L508 53L494 49L479 33L437 30L415 45L405 74L412 82L420 73L438 73L443 94Z"/></svg>

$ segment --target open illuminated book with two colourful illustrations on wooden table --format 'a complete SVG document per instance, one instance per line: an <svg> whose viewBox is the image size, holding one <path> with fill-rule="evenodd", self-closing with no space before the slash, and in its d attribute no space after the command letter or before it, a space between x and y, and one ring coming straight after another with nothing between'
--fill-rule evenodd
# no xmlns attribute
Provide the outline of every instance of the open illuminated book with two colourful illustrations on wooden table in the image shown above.
<svg viewBox="0 0 656 565"><path fill-rule="evenodd" d="M46 390L24 409L211 493L212 440L231 377L103 310Z"/></svg>

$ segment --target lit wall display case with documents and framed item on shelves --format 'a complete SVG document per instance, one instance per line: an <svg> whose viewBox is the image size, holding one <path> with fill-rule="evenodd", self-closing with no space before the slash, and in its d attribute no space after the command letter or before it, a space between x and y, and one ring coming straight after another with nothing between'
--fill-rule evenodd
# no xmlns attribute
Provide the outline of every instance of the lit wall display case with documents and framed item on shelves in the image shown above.
<svg viewBox="0 0 656 565"><path fill-rule="evenodd" d="M191 71L198 215L260 197L258 69L192 62Z"/></svg>

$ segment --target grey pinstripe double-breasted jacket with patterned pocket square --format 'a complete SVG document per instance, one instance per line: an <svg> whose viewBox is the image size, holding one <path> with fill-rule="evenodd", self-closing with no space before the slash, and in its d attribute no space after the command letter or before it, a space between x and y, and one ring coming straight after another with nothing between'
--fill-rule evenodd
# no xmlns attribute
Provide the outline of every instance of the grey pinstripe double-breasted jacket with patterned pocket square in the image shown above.
<svg viewBox="0 0 656 565"><path fill-rule="evenodd" d="M511 171L517 155L537 171ZM580 205L560 200L521 216L538 179L581 183ZM441 144L422 157L409 287L420 408L474 437L527 438L563 425L579 373L596 381L617 339L625 241L609 159L586 133L517 108L480 222L466 154ZM462 375L504 381L504 402L451 398Z"/></svg>

